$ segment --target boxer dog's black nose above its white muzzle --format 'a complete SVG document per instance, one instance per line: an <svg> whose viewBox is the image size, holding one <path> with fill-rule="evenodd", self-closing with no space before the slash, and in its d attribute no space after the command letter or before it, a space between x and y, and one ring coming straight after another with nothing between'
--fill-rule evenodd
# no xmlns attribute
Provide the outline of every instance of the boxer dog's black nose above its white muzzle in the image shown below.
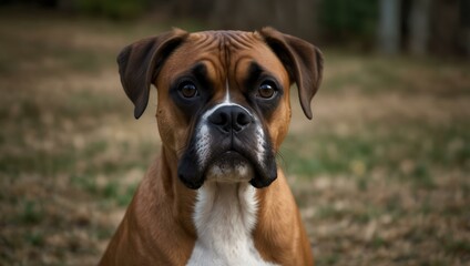
<svg viewBox="0 0 470 266"><path fill-rule="evenodd" d="M231 105L215 110L214 113L208 116L208 122L225 133L232 131L237 133L246 129L253 122L253 116L247 110L241 106Z"/></svg>

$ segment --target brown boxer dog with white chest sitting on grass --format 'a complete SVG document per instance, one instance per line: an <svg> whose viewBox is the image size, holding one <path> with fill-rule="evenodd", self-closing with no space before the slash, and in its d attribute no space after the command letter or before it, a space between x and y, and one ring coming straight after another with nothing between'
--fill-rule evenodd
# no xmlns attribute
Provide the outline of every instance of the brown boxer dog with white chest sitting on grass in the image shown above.
<svg viewBox="0 0 470 266"><path fill-rule="evenodd" d="M313 265L276 154L293 83L311 119L320 51L272 28L173 30L117 63L136 119L156 86L162 149L100 265Z"/></svg>

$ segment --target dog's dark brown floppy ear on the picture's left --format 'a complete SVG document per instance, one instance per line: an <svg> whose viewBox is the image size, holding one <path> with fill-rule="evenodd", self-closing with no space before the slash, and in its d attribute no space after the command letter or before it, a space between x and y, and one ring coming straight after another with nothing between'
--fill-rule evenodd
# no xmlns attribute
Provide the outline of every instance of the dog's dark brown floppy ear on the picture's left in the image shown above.
<svg viewBox="0 0 470 266"><path fill-rule="evenodd" d="M125 94L134 103L139 119L149 103L150 85L165 59L180 45L187 32L175 29L157 37L143 39L125 47L117 55L119 74Z"/></svg>

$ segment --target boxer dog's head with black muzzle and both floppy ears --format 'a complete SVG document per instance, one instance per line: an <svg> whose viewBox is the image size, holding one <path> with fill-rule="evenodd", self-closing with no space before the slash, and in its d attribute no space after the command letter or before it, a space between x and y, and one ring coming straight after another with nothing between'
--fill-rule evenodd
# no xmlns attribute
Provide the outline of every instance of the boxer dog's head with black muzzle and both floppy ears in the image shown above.
<svg viewBox="0 0 470 266"><path fill-rule="evenodd" d="M269 185L290 121L295 82L305 115L321 80L310 43L272 28L256 32L182 30L137 41L117 58L139 119L157 88L157 123L177 174L190 188L205 181Z"/></svg>

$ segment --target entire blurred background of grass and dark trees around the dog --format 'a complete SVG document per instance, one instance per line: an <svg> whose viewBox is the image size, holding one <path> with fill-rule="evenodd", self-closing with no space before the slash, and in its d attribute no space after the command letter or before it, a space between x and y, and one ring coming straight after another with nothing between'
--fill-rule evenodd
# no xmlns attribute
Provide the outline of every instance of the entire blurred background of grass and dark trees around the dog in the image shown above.
<svg viewBox="0 0 470 266"><path fill-rule="evenodd" d="M316 264L469 265L468 0L1 0L0 265L98 263L161 147L124 45L263 25L325 55L278 155Z"/></svg>

